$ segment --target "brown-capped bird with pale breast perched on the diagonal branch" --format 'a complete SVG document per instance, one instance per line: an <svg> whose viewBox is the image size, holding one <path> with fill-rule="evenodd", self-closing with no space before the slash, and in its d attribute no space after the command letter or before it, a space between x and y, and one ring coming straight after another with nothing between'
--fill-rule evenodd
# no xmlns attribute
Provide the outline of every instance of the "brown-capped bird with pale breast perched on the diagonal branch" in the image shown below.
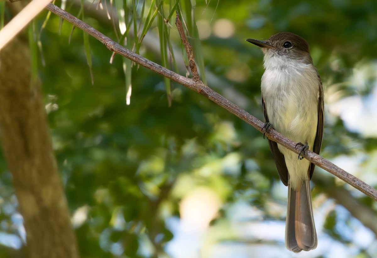
<svg viewBox="0 0 377 258"><path fill-rule="evenodd" d="M315 165L300 155L308 149L320 152L324 124L322 81L313 65L309 44L299 35L280 32L265 41L247 41L261 47L264 54L264 130L274 128L302 145L297 157L268 139L280 180L288 186L285 246L296 253L313 250L318 241L310 189Z"/></svg>

